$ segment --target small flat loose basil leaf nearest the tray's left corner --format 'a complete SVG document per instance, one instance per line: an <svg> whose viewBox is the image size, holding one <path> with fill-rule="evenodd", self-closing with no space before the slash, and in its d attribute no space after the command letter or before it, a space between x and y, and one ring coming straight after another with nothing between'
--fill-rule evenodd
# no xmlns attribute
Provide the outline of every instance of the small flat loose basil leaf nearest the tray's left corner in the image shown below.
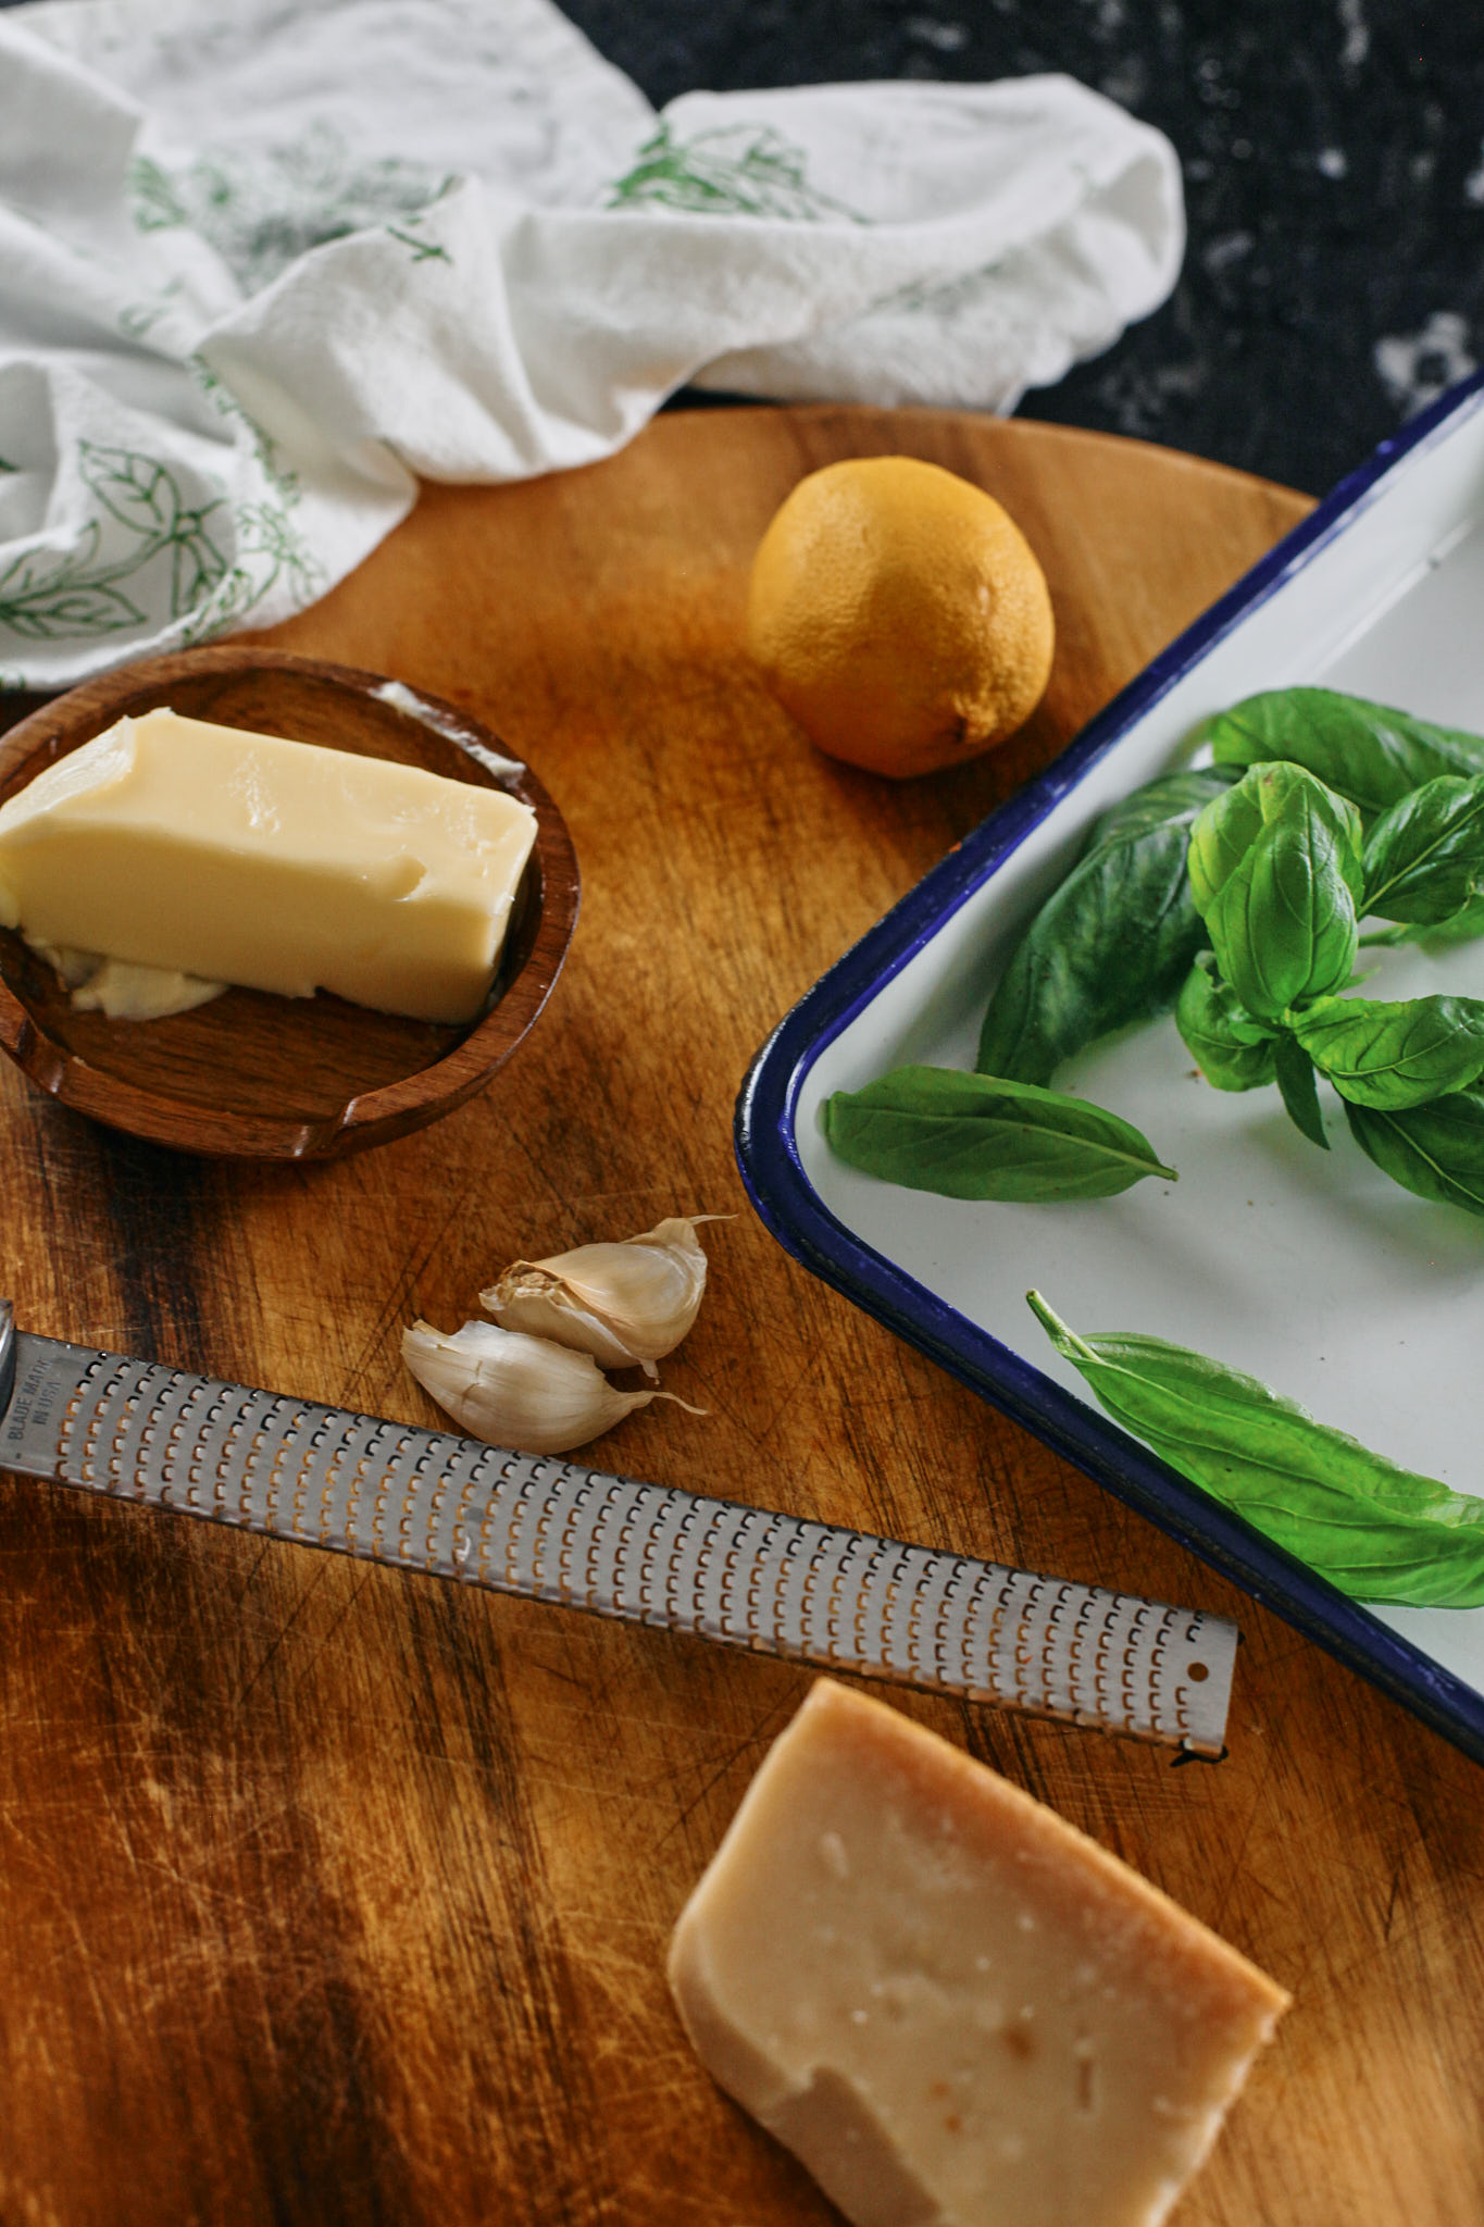
<svg viewBox="0 0 1484 2227"><path fill-rule="evenodd" d="M943 1198L1112 1198L1175 1178L1130 1122L1086 1098L952 1067L897 1067L823 1107L830 1151L850 1167Z"/></svg>

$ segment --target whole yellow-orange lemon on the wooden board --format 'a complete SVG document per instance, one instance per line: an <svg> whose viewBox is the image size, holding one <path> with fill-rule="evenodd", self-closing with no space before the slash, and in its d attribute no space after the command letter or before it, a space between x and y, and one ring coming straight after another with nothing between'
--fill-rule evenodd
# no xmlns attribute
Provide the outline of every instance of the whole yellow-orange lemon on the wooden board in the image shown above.
<svg viewBox="0 0 1484 2227"><path fill-rule="evenodd" d="M774 512L748 648L821 750L906 779L1026 724L1055 626L1041 566L983 488L919 457L848 457Z"/></svg>

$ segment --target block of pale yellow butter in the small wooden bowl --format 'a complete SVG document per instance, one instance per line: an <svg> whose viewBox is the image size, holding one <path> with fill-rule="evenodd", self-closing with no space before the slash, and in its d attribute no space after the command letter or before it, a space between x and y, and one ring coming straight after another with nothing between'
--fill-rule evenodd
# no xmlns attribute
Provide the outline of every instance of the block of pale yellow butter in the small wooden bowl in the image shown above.
<svg viewBox="0 0 1484 2227"><path fill-rule="evenodd" d="M0 806L0 926L463 1022L534 840L536 815L498 788L149 710Z"/></svg>

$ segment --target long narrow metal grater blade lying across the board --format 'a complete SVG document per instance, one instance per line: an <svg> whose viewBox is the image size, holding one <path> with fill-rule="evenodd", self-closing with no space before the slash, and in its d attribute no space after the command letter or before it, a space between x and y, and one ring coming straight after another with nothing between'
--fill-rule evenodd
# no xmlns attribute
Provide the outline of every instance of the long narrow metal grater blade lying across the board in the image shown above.
<svg viewBox="0 0 1484 2227"><path fill-rule="evenodd" d="M9 1301L0 1468L1221 1755L1221 1617L22 1336Z"/></svg>

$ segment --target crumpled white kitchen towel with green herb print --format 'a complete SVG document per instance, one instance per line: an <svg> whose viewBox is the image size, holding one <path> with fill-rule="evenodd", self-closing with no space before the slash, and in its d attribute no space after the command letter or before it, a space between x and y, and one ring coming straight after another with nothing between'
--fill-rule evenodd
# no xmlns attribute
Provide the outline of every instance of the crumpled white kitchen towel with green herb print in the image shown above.
<svg viewBox="0 0 1484 2227"><path fill-rule="evenodd" d="M547 0L0 13L0 686L271 626L679 385L1012 410L1170 292L1070 78L685 94Z"/></svg>

